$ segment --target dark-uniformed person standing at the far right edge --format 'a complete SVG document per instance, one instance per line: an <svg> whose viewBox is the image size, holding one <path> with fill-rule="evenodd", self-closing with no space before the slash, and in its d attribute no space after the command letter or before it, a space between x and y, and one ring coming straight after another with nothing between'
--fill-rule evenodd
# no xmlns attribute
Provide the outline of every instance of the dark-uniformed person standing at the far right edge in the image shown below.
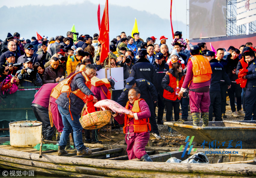
<svg viewBox="0 0 256 178"><path fill-rule="evenodd" d="M254 52L245 52L244 57L245 61L248 63L248 72L247 75L244 76L244 78L247 79L245 86L246 111L244 120L256 120L256 60Z"/></svg>

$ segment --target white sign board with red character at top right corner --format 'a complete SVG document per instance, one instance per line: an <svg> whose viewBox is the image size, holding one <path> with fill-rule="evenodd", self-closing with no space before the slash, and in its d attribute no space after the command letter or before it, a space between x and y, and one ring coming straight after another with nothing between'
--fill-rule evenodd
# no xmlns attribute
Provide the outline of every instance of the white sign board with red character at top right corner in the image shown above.
<svg viewBox="0 0 256 178"><path fill-rule="evenodd" d="M236 26L256 20L256 0L237 0Z"/></svg>

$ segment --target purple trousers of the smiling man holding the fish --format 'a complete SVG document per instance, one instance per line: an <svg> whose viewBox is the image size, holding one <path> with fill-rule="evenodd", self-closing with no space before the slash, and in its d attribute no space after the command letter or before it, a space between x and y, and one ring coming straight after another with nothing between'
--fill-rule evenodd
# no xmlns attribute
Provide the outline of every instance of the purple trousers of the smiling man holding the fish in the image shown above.
<svg viewBox="0 0 256 178"><path fill-rule="evenodd" d="M125 134L125 141L127 143L126 151L129 159L140 159L147 154L145 146L148 144L149 137L149 132Z"/></svg>

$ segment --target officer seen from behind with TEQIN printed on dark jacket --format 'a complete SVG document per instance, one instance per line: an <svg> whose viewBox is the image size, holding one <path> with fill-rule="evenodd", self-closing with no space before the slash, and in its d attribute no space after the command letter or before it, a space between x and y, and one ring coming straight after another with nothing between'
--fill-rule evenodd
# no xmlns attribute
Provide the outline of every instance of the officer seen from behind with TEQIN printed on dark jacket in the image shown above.
<svg viewBox="0 0 256 178"><path fill-rule="evenodd" d="M139 50L139 60L136 64L133 65L130 76L136 79L145 79L149 82L153 83L155 88L157 89L157 75L155 72L155 67L148 61L147 58L147 50L142 49Z"/></svg>

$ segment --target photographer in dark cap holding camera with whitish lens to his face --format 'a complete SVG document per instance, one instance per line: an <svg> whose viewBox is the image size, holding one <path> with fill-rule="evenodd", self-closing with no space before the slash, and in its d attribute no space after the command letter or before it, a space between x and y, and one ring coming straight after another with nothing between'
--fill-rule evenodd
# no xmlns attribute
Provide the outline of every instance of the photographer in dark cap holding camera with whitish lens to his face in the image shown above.
<svg viewBox="0 0 256 178"><path fill-rule="evenodd" d="M43 82L37 73L33 71L33 61L31 58L26 58L23 63L23 69L17 71L17 77L20 80L20 86L42 86Z"/></svg>

